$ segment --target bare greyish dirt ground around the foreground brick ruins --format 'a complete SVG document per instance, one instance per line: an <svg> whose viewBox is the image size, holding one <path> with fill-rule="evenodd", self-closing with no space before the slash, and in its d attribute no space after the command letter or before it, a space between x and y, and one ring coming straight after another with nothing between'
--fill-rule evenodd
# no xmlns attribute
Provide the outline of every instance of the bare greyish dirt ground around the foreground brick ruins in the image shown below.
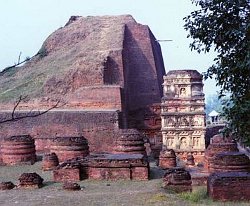
<svg viewBox="0 0 250 206"><path fill-rule="evenodd" d="M12 181L18 184L23 172L36 172L44 179L40 189L13 189L0 191L0 205L6 206L133 206L133 205L250 205L250 203L219 203L207 197L200 200L189 200L181 195L161 188L161 176L164 171L151 163L151 180L149 181L91 181L79 182L81 191L65 191L61 183L52 181L52 172L43 172L41 162L24 166L1 166L0 182ZM194 191L205 189L194 188Z"/></svg>

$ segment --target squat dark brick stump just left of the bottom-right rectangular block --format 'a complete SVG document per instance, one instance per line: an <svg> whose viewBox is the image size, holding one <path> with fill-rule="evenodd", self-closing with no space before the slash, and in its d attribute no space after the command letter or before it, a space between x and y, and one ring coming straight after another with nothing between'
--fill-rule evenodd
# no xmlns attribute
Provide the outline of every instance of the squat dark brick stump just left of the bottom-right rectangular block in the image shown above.
<svg viewBox="0 0 250 206"><path fill-rule="evenodd" d="M190 173L184 168L168 169L163 177L163 188L176 192L191 191L192 181Z"/></svg>

